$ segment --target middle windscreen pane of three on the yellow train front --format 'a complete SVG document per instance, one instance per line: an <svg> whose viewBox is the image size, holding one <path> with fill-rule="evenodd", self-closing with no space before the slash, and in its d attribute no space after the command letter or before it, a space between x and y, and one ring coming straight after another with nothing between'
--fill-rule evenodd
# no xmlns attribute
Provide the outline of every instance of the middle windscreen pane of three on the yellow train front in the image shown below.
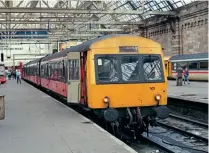
<svg viewBox="0 0 209 153"><path fill-rule="evenodd" d="M121 61L121 72L123 81L139 80L138 57L125 56Z"/></svg>

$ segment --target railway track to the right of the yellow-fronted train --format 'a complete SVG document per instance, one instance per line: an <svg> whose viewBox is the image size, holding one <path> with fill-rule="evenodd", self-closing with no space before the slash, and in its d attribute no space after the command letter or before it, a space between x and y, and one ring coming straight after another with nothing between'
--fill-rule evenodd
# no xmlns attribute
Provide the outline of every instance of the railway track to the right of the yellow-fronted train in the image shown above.
<svg viewBox="0 0 209 153"><path fill-rule="evenodd" d="M171 114L166 120L158 120L158 127L150 128L142 138L169 153L208 152L208 125L199 121Z"/></svg>

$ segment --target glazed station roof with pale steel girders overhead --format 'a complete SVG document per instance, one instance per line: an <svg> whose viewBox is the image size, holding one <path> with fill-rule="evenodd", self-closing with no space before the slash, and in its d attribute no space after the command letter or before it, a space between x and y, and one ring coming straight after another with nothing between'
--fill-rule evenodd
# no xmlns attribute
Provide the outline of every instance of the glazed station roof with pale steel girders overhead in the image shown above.
<svg viewBox="0 0 209 153"><path fill-rule="evenodd" d="M88 40L144 27L153 16L175 16L192 0L1 0L2 41Z"/></svg>

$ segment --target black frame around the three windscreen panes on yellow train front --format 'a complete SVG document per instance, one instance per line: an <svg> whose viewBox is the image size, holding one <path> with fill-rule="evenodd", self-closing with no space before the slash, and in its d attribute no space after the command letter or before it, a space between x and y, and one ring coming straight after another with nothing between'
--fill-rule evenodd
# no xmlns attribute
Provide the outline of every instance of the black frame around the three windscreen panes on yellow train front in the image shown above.
<svg viewBox="0 0 209 153"><path fill-rule="evenodd" d="M139 74L143 74L144 73L144 70L143 70L143 67L142 67L142 58L143 56L157 56L161 59L161 62L160 62L160 66L163 68L163 58L161 56L161 54L96 54L94 55L94 67L95 67L95 81L96 81L96 84L98 85L102 85L102 84L140 84L140 83L164 83L165 82L165 72L164 72L164 69L161 70L161 73L162 73L162 80L145 80L145 76L144 75L141 75L140 78L142 79L139 79L137 81L135 80L130 80L130 81L123 81L122 80L122 72L121 72L121 59L122 57L124 56L137 56L138 59L139 59ZM119 75L119 80L118 81L115 81L115 82L110 82L110 81L100 81L98 79L98 58L101 58L101 57L105 57L105 56L111 56L111 57L116 57L116 59L118 60L118 65L117 65L117 69L118 69L118 73L120 74Z"/></svg>

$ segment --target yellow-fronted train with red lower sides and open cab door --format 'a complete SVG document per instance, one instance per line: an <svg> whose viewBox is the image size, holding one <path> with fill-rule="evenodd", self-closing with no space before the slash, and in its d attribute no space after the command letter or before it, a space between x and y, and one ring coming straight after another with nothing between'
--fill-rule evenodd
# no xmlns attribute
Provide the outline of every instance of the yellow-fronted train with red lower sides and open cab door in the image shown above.
<svg viewBox="0 0 209 153"><path fill-rule="evenodd" d="M23 78L136 138L168 117L163 58L153 40L107 35L26 63Z"/></svg>

